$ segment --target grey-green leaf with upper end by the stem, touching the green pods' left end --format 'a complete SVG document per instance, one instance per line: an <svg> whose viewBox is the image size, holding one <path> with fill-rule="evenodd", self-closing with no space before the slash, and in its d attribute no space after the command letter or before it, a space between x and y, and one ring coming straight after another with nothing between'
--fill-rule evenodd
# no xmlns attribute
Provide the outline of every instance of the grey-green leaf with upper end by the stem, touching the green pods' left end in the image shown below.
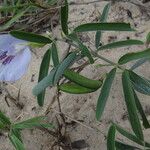
<svg viewBox="0 0 150 150"><path fill-rule="evenodd" d="M76 53L72 52L61 62L61 64L57 67L57 70L54 75L53 79L54 85L59 81L64 71L72 65L72 63L75 61L76 58L77 58Z"/></svg>

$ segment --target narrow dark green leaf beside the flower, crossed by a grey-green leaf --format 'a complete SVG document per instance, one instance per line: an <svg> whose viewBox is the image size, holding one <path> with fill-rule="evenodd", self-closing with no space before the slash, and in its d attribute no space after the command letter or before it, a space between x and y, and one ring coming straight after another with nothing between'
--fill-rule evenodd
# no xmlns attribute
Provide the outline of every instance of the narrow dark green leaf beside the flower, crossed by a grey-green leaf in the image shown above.
<svg viewBox="0 0 150 150"><path fill-rule="evenodd" d="M41 66L40 66L38 82L40 82L48 74L49 64L50 64L50 57L51 57L51 50L48 49L46 51L46 53L44 54L44 57L43 57L43 60L42 60ZM43 90L37 96L37 101L38 101L39 106L43 106L44 98L45 98L45 90Z"/></svg>

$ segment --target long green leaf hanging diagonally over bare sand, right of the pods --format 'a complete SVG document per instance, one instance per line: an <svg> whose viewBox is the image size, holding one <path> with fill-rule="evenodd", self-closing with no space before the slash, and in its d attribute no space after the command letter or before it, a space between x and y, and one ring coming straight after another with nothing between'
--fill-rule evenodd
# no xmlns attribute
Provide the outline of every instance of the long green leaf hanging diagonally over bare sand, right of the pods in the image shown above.
<svg viewBox="0 0 150 150"><path fill-rule="evenodd" d="M109 92L111 89L111 85L115 77L115 73L116 73L116 68L112 69L108 73L106 80L104 81L104 84L102 86L101 93L98 98L97 106L96 106L96 119L97 120L100 120L102 113L104 111L104 108L105 108L105 105L109 96Z"/></svg>

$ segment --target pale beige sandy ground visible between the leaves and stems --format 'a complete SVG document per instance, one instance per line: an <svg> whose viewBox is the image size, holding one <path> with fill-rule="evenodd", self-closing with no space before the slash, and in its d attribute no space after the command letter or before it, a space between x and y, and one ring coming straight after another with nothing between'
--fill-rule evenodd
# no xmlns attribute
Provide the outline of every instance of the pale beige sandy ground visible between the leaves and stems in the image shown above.
<svg viewBox="0 0 150 150"><path fill-rule="evenodd" d="M89 0L92 1L92 0ZM88 2L88 0L76 0L76 2ZM104 5L107 2L97 2L89 5L72 5L70 6L69 13L69 27L73 27L87 22L94 22L99 15L99 12L102 12ZM130 18L127 15L127 11L130 10L132 17ZM143 14L139 7L130 4L118 2L111 7L109 13L109 22L130 22L133 27L137 29L137 32L105 32L103 34L103 42L106 44L112 42L113 40L125 40L126 38L136 38L140 40L145 40L146 34L150 32L150 20ZM57 26L53 33L57 36L60 35L60 26ZM82 39L84 42L93 47L95 33L84 33ZM67 45L64 43L58 43L58 49L60 56L65 52ZM109 58L110 60L117 62L118 58L131 51L138 51L144 49L144 46L133 46L120 49L113 49L111 51L107 50L105 52L100 52L101 55ZM30 117L44 114L47 107L50 105L51 111L48 114L49 121L54 121L55 117L58 116L58 104L54 100L56 96L55 87L52 89L47 89L46 99L43 108L39 108L36 102L36 98L32 95L32 88L37 83L38 71L41 62L41 58L44 52L47 50L47 47L42 49L34 50L35 53L32 54L32 61L30 63L29 69L24 77L17 81L14 84L4 84L2 86L2 94L0 95L0 109L4 111L13 121L24 120ZM105 68L96 68L95 65L105 62L98 60L95 64L89 65L86 67L82 74L87 77L98 79L104 76L111 67ZM129 63L126 67L130 67ZM136 70L137 73L150 78L148 63L139 67ZM7 92L3 89L8 89L13 97L17 97L18 91L20 90L19 102L24 105L23 109L19 109L12 102L11 99L7 99L10 106L7 105L5 101L5 96ZM113 87L110 92L109 100L104 111L102 120L97 122L95 119L95 107L100 91L96 91L91 94L86 95L71 95L62 93L60 96L60 102L62 107L62 112L67 116L67 121L79 121L74 125L67 126L67 134L70 137L71 141L76 140L85 140L88 144L87 148L83 150L106 150L106 139L105 134L108 131L110 121L114 121L126 129L130 130L130 125L127 120L126 107L123 99L123 92L121 87L121 75L120 72L117 72L116 78L113 82ZM150 103L149 97L139 95L143 107L147 112L147 116L150 115ZM145 130L145 139L150 141L150 131ZM123 137L117 134L117 138L126 141ZM55 142L55 138L47 132L40 130L25 130L23 131L23 139L26 146L26 150L50 150L52 144ZM57 150L58 147L55 147ZM9 143L7 135L0 136L0 150L13 150L12 145Z"/></svg>

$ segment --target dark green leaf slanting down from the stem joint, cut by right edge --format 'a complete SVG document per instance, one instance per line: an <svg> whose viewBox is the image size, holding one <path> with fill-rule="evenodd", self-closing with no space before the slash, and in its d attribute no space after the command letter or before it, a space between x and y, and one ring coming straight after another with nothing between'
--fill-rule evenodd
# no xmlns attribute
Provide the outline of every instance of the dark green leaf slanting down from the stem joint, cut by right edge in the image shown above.
<svg viewBox="0 0 150 150"><path fill-rule="evenodd" d="M150 95L150 80L137 75L133 71L129 71L129 74L133 88L142 94Z"/></svg>

